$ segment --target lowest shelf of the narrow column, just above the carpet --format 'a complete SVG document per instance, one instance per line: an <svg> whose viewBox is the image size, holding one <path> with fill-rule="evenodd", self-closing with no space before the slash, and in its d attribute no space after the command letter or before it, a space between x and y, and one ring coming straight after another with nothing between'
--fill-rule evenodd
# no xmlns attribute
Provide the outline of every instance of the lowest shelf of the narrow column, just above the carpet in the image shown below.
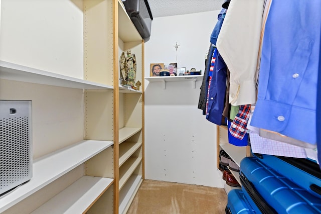
<svg viewBox="0 0 321 214"><path fill-rule="evenodd" d="M126 213L142 182L140 175L131 175L119 192L119 213Z"/></svg>

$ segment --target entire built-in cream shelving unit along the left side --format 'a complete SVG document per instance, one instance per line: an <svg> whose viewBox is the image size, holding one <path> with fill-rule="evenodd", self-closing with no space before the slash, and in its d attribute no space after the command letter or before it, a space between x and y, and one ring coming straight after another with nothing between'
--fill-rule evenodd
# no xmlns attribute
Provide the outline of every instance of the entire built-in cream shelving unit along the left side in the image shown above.
<svg viewBox="0 0 321 214"><path fill-rule="evenodd" d="M144 41L120 0L72 4L82 10L83 79L0 61L0 99L32 100L36 118L34 176L0 198L0 212L125 213L144 178ZM128 49L140 90L120 85Z"/></svg>

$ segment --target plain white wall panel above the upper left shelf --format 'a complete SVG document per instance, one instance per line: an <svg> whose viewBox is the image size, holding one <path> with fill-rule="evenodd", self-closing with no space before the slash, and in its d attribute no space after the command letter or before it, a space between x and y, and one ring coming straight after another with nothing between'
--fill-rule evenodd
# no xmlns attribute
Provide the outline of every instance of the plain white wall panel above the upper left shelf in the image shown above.
<svg viewBox="0 0 321 214"><path fill-rule="evenodd" d="M0 60L83 79L81 0L3 0Z"/></svg>

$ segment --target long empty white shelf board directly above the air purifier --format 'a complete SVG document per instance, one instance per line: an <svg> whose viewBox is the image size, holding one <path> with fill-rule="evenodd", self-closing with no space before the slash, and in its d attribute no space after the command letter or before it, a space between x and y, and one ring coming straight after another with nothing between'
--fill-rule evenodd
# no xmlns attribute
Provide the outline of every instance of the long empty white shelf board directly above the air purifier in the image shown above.
<svg viewBox="0 0 321 214"><path fill-rule="evenodd" d="M78 89L112 89L110 85L64 76L57 73L0 61L0 79Z"/></svg>

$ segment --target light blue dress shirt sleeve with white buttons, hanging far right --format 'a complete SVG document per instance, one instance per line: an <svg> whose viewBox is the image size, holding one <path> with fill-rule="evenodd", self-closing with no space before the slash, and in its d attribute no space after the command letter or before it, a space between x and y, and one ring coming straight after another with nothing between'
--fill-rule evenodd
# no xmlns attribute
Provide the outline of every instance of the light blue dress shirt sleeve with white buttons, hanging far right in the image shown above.
<svg viewBox="0 0 321 214"><path fill-rule="evenodd" d="M321 20L319 0L272 1L250 124L314 145L321 32L315 20Z"/></svg>

